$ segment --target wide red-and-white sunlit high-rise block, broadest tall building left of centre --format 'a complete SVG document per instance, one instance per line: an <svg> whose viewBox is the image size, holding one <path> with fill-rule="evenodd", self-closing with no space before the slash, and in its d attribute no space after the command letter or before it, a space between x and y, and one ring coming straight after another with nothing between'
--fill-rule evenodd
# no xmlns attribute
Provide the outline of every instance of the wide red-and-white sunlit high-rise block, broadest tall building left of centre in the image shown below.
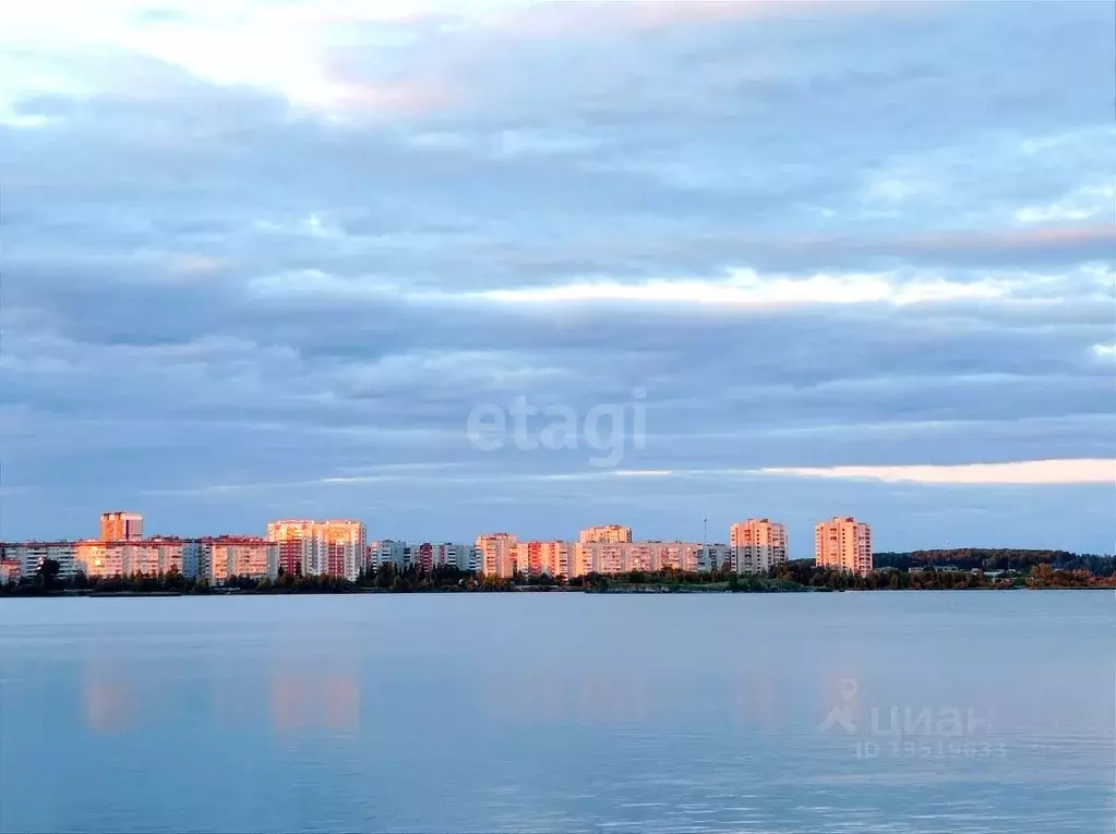
<svg viewBox="0 0 1116 834"><path fill-rule="evenodd" d="M356 521L277 521L268 541L279 544L279 565L305 576L355 581L365 566L365 527Z"/></svg>

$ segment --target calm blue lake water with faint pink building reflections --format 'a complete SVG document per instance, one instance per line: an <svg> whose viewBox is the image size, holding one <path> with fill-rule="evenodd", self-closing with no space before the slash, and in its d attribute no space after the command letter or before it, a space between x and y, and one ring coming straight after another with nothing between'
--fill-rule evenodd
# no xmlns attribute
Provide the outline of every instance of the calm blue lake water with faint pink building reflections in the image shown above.
<svg viewBox="0 0 1116 834"><path fill-rule="evenodd" d="M1114 624L1072 591L4 600L0 830L1112 832Z"/></svg>

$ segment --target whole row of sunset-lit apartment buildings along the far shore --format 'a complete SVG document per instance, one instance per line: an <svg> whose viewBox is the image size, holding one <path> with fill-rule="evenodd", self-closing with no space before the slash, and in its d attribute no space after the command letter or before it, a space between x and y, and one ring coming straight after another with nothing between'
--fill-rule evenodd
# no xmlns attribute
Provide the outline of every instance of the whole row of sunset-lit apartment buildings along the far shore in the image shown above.
<svg viewBox="0 0 1116 834"><path fill-rule="evenodd" d="M383 564L433 570L452 566L501 578L527 575L581 576L631 571L732 570L766 573L787 562L787 533L769 518L733 524L729 543L634 541L619 524L580 531L578 540L520 541L511 533L491 533L473 544L450 542L407 544L396 540L366 541L356 521L278 521L266 536L177 539L143 536L143 517L105 513L97 540L0 543L0 582L29 575L44 560L59 564L60 575L127 576L180 572L215 584L232 576L344 576L356 580ZM872 570L872 536L867 524L834 517L817 525L815 561L855 573Z"/></svg>

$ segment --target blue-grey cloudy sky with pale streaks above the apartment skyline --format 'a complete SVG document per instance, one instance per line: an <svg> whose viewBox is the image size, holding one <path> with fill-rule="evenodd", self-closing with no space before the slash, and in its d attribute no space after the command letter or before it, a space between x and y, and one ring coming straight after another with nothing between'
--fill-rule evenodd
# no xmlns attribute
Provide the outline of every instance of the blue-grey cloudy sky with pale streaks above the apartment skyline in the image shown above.
<svg viewBox="0 0 1116 834"><path fill-rule="evenodd" d="M0 535L770 516L805 556L852 514L879 550L1112 552L1114 31L1112 2L6 3ZM576 431L517 440L520 397Z"/></svg>

